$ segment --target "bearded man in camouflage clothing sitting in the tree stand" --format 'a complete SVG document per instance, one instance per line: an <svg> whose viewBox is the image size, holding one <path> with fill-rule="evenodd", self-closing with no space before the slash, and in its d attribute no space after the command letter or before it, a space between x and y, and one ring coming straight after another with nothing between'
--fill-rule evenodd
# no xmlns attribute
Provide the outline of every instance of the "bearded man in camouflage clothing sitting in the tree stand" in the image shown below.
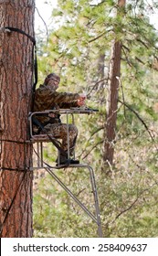
<svg viewBox="0 0 158 256"><path fill-rule="evenodd" d="M79 93L58 92L60 78L55 73L51 73L36 90L34 112L44 112L46 110L68 109L79 107L85 104L86 97ZM42 124L44 129L38 129L38 133L48 133L49 135L62 140L59 154L59 165L77 165L79 160L68 159L68 134L69 134L69 155L72 156L78 136L78 129L74 124L61 123L58 113L50 113L44 116L37 116L36 119ZM68 134L67 134L68 133Z"/></svg>

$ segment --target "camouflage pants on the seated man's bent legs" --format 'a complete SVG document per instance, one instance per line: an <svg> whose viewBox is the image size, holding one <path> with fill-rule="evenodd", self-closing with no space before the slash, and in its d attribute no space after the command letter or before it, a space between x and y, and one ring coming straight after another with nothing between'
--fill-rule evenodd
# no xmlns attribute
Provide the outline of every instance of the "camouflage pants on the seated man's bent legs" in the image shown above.
<svg viewBox="0 0 158 256"><path fill-rule="evenodd" d="M66 123L48 123L45 126L45 130L48 134L53 135L54 137L61 139L61 148L64 151L68 151L68 135L69 135L69 152L70 155L73 155L73 151L76 144L76 139L78 136L78 129L74 124ZM41 132L44 133L44 132Z"/></svg>

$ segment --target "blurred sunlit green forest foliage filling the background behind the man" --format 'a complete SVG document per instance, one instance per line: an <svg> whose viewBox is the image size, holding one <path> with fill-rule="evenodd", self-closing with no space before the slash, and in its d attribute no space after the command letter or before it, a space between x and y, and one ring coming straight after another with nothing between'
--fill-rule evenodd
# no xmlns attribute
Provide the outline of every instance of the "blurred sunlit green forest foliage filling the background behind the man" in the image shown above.
<svg viewBox="0 0 158 256"><path fill-rule="evenodd" d="M99 109L76 116L76 155L95 171L104 237L158 236L157 88L158 33L150 16L157 1L58 0L52 22L37 29L39 84L52 71L60 74L58 91L86 93ZM113 42L121 43L121 72L112 161L106 159L107 112ZM56 151L46 145L45 159ZM59 171L65 184L93 211L85 170ZM47 173L34 179L35 237L96 237L96 224Z"/></svg>

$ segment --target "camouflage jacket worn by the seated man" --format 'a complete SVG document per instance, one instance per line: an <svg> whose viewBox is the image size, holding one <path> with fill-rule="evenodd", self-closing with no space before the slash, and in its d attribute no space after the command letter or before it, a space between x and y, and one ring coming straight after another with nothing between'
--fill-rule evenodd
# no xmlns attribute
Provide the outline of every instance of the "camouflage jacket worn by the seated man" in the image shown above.
<svg viewBox="0 0 158 256"><path fill-rule="evenodd" d="M40 85L36 90L34 101L34 112L43 112L52 109L68 109L70 107L77 107L77 100L79 93L58 92L51 89L50 86ZM59 123L59 115L55 118L47 116L38 116L38 121L41 123Z"/></svg>

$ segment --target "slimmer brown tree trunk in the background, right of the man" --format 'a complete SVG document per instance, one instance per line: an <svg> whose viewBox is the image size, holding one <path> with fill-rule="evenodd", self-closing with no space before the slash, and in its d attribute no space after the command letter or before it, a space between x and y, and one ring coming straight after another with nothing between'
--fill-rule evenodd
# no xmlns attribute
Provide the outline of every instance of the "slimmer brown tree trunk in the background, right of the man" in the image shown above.
<svg viewBox="0 0 158 256"><path fill-rule="evenodd" d="M125 6L125 0L118 1L118 13L122 15L121 9ZM118 109L118 95L119 95L119 80L121 75L121 42L114 39L111 46L111 60L109 71L109 96L107 101L107 119L105 128L105 143L103 160L108 165L113 164L114 144L116 138L116 122Z"/></svg>

